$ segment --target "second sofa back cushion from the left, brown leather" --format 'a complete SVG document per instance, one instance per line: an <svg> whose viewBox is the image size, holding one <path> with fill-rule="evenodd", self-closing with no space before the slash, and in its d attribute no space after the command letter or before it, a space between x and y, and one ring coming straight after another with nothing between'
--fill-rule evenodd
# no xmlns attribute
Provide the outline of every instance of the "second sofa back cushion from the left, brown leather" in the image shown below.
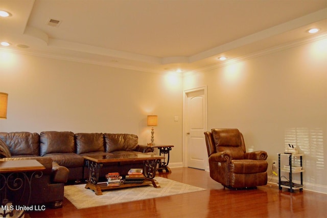
<svg viewBox="0 0 327 218"><path fill-rule="evenodd" d="M40 156L51 153L69 153L74 151L74 133L56 131L40 133Z"/></svg>

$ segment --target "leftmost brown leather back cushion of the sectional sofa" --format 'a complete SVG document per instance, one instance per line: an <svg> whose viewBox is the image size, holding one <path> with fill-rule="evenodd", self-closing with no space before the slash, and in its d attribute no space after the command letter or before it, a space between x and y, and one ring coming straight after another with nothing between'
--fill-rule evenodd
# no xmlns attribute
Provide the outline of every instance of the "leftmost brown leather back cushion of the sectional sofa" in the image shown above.
<svg viewBox="0 0 327 218"><path fill-rule="evenodd" d="M39 156L40 136L37 133L0 133L0 138L8 145L12 156Z"/></svg>

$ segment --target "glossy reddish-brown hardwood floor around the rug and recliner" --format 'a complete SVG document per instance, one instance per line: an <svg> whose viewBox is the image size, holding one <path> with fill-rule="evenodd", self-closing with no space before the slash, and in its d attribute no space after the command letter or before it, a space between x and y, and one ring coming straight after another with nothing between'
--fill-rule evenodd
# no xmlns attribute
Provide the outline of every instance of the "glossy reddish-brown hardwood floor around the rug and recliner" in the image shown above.
<svg viewBox="0 0 327 218"><path fill-rule="evenodd" d="M29 212L26 217L327 217L326 194L290 193L271 185L229 190L209 172L192 168L173 168L156 176L207 190L86 209L76 209L65 199L63 208Z"/></svg>

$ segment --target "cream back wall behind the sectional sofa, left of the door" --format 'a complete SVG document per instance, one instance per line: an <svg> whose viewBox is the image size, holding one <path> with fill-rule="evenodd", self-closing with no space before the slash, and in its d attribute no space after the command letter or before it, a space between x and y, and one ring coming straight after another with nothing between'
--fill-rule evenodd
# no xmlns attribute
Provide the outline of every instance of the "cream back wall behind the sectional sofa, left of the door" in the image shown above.
<svg viewBox="0 0 327 218"><path fill-rule="evenodd" d="M147 115L158 115L155 143L173 144L182 162L182 78L0 51L0 92L9 94L1 132L46 130L131 133L150 142Z"/></svg>

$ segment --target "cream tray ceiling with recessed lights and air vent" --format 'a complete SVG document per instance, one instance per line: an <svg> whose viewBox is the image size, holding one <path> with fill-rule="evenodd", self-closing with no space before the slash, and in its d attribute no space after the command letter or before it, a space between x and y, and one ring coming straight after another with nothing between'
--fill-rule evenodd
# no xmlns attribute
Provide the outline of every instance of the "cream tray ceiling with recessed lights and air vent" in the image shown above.
<svg viewBox="0 0 327 218"><path fill-rule="evenodd" d="M1 0L11 16L0 17L0 40L35 54L188 72L308 38L312 27L325 33L326 8L325 0Z"/></svg>

